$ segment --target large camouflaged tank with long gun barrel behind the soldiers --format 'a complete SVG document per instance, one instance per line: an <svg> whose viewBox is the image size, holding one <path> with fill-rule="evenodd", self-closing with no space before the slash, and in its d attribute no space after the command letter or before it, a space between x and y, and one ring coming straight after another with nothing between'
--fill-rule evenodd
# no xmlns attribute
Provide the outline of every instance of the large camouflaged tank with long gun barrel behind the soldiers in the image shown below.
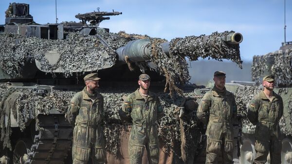
<svg viewBox="0 0 292 164"><path fill-rule="evenodd" d="M37 24L29 4L12 3L0 26L0 163L71 164L73 128L65 114L87 73L101 77L108 164L128 163L131 123L118 111L141 73L151 76L165 116L157 122L160 164L204 163L198 102L208 89L189 83L187 59L228 59L241 67L240 33L161 38L100 28L121 12L77 14L80 22ZM191 105L190 105L191 104ZM146 152L143 164L147 163Z"/></svg>

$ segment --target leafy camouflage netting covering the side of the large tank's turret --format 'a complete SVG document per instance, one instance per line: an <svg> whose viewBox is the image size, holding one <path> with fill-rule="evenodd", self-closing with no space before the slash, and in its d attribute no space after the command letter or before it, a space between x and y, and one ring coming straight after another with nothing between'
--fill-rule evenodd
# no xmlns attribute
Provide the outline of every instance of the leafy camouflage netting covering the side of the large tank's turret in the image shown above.
<svg viewBox="0 0 292 164"><path fill-rule="evenodd" d="M22 74L22 67L31 57L37 59L41 63L41 69L46 72L53 72L61 67L65 77L72 76L73 71L80 68L102 69L106 62L114 64L116 60L115 55L109 57L102 55L105 52L109 54L115 52L103 46L97 37L84 37L77 33L69 33L68 39L64 40L1 33L0 44L0 68L10 77ZM53 50L57 50L60 58L56 64L51 65L44 55Z"/></svg>

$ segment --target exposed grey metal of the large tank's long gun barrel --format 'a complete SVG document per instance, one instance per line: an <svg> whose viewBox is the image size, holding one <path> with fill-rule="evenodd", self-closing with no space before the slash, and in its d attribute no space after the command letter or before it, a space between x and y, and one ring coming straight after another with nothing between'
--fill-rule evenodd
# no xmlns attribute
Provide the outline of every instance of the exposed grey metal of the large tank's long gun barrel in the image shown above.
<svg viewBox="0 0 292 164"><path fill-rule="evenodd" d="M192 36L186 36L192 37ZM205 46L207 47L216 47L215 42L217 42L217 39L222 40L226 43L226 45L238 45L242 42L243 37L240 33L230 33L223 36L203 36L202 37L202 43L207 44ZM208 42L208 40L211 40ZM188 44L192 44L192 41L194 41L193 38L190 38L190 42ZM120 47L117 49L117 53L119 55L119 60L122 62L126 62L126 56L131 62L140 62L140 61L146 61L150 59L150 53L151 50L149 47L147 47L147 44L150 43L150 39L138 39L128 42L126 46ZM166 55L169 55L170 49L170 43L171 42L164 42L161 43L160 46L162 46L162 49ZM177 44L176 42L175 44ZM172 45L174 47L176 45ZM198 45L192 44L191 47L193 49L196 49ZM183 45L180 46L180 49L183 49ZM181 54L182 55L182 54ZM183 56L186 56L184 54Z"/></svg>

